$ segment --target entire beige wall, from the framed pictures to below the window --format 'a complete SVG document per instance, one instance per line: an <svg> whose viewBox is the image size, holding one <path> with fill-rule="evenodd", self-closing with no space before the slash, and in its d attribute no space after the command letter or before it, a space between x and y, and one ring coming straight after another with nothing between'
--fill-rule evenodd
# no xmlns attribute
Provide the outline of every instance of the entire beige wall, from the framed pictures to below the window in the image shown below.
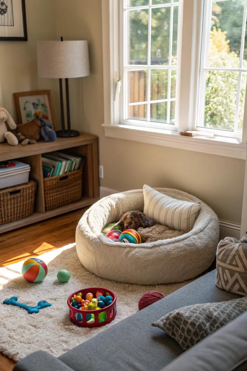
<svg viewBox="0 0 247 371"><path fill-rule="evenodd" d="M88 40L91 75L69 81L71 125L99 136L101 185L120 191L144 183L178 188L208 203L221 220L240 224L243 160L104 137L101 1L26 0L26 7L29 41L1 42L3 105L13 113L13 92L47 88L58 116L58 82L37 78L36 41Z"/></svg>

